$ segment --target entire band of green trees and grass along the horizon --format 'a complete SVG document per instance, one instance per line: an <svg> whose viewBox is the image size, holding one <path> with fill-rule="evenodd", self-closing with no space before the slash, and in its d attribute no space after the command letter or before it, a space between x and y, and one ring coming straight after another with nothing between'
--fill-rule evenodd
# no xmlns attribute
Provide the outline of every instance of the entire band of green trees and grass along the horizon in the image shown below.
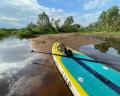
<svg viewBox="0 0 120 96"><path fill-rule="evenodd" d="M34 34L65 33L65 32L120 32L120 12L118 6L113 6L106 12L103 11L98 21L90 23L87 27L74 24L72 16L66 17L63 24L61 20L52 18L43 12L38 15L37 24L30 22L21 29L0 29L0 37L5 32L18 36L32 36ZM7 33L8 34L8 33Z"/></svg>

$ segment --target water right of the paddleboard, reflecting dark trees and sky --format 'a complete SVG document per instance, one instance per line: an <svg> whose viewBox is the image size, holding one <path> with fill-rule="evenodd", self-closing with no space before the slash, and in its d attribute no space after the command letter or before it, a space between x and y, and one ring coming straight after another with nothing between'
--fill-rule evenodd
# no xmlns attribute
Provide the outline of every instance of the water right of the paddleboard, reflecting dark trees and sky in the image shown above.
<svg viewBox="0 0 120 96"><path fill-rule="evenodd" d="M116 70L120 71L120 39L104 38L103 43L80 47L80 52L98 61L109 63ZM116 64L116 65L112 65Z"/></svg>

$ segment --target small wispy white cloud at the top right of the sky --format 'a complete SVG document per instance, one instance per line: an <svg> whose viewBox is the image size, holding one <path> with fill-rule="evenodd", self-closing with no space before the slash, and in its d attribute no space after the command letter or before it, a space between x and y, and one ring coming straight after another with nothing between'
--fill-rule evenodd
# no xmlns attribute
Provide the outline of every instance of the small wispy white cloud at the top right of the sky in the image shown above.
<svg viewBox="0 0 120 96"><path fill-rule="evenodd" d="M110 0L90 0L89 2L84 4L84 8L86 10L93 9L93 8L101 8L106 3L108 3Z"/></svg>

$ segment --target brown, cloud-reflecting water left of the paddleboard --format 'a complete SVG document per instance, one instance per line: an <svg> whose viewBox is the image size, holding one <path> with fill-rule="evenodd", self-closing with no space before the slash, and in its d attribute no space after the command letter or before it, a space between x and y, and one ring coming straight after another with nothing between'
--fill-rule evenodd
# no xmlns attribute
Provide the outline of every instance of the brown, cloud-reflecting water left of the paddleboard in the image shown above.
<svg viewBox="0 0 120 96"><path fill-rule="evenodd" d="M72 96L54 64L31 53L28 39L0 41L0 96L62 95Z"/></svg>

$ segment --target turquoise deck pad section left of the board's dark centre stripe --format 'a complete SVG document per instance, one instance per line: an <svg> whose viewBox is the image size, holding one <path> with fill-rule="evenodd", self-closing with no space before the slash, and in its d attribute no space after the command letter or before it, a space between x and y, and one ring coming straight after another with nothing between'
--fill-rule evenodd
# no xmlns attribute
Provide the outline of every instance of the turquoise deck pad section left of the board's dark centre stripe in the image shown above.
<svg viewBox="0 0 120 96"><path fill-rule="evenodd" d="M75 60L62 57L61 62L89 96L119 96Z"/></svg>

